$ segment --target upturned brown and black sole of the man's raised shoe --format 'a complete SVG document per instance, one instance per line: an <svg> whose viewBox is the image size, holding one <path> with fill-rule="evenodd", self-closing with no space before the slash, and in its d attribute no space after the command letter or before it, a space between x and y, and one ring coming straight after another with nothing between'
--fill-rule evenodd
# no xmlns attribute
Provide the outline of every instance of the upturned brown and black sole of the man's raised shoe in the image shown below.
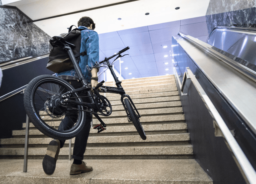
<svg viewBox="0 0 256 184"><path fill-rule="evenodd" d="M59 152L60 145L56 140L52 140L47 147L47 151L42 163L44 172L46 174L51 175L54 173Z"/></svg>

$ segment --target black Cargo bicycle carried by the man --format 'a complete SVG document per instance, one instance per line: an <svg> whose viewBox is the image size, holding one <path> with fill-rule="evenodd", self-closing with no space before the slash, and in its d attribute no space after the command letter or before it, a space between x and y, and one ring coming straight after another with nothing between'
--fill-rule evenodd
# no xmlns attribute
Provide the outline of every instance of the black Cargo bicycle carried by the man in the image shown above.
<svg viewBox="0 0 256 184"><path fill-rule="evenodd" d="M121 95L120 100L126 111L128 122L132 122L140 137L146 140L146 134L140 123L141 115L130 96L125 93L121 85L122 81L118 80L109 62L115 56L117 56L116 59L123 57L124 55L121 55L121 53L130 48L126 47L108 58L105 57L103 61L99 62L100 64L106 63L116 81L117 87L103 86L105 81L101 81L96 87L92 88L82 75L82 71L72 52L71 48L76 46L66 42L59 36L54 36L50 40L50 44L53 47L62 47L67 51L83 87L74 89L67 81L53 75L41 75L32 79L28 83L24 93L24 107L33 125L48 137L70 139L76 137L80 129L82 129L84 126L85 112L88 112L92 113L100 121L100 124L94 127L100 133L106 130L106 124L99 115L109 116L112 113L110 102L106 97L100 95L100 92L117 93ZM101 89L100 92L97 90L99 88ZM93 89L94 94L91 92L91 89ZM87 96L80 96L79 93L81 92ZM83 102L82 97L88 97L90 103ZM72 125L68 126L68 129L58 130L58 125L63 118L65 116L71 117L71 115Z"/></svg>

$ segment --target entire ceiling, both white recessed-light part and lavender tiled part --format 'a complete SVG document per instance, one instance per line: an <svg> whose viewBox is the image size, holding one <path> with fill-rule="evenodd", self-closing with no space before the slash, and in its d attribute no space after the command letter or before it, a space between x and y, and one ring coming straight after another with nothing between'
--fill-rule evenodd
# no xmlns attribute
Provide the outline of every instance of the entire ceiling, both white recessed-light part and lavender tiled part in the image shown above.
<svg viewBox="0 0 256 184"><path fill-rule="evenodd" d="M125 52L129 56L122 57L124 79L172 74L172 36L181 31L205 41L208 36L205 15L209 2L210 0L2 0L3 5L18 7L50 36L67 32L67 28L76 25L82 16L91 17L96 23L95 31L99 34L100 61L126 46L130 47ZM99 8L101 6L107 7ZM176 10L176 7L180 9ZM90 8L94 9L88 10ZM81 10L88 11L72 14ZM67 13L71 14L60 16ZM50 18L52 16L58 17ZM40 20L44 18L48 19ZM128 69L124 69L125 67ZM119 65L115 68L119 71Z"/></svg>

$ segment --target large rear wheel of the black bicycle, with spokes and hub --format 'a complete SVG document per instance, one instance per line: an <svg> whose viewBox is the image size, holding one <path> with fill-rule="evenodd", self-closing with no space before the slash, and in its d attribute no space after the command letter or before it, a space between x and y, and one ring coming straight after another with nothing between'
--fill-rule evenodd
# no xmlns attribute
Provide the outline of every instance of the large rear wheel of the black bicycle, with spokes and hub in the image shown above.
<svg viewBox="0 0 256 184"><path fill-rule="evenodd" d="M85 113L83 107L61 103L62 95L74 87L52 75L34 78L26 87L24 107L33 125L44 135L56 139L76 137L84 126ZM76 93L69 97L82 101ZM60 126L60 123L61 126Z"/></svg>

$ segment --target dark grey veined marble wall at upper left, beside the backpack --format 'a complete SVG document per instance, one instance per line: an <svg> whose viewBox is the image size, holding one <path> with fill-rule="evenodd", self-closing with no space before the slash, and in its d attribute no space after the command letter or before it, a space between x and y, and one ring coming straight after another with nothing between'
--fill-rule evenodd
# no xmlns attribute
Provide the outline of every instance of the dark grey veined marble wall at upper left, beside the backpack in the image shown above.
<svg viewBox="0 0 256 184"><path fill-rule="evenodd" d="M0 7L0 63L48 53L51 37L18 10L3 7Z"/></svg>

